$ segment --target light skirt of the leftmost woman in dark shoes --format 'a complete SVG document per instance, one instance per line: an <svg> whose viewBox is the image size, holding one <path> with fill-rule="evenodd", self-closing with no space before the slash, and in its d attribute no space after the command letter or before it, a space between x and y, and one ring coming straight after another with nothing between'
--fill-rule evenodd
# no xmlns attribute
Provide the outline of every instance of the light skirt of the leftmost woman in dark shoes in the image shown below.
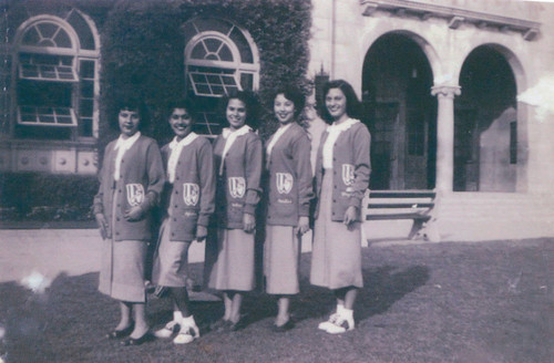
<svg viewBox="0 0 554 363"><path fill-rule="evenodd" d="M115 206L113 204L112 226ZM145 302L144 266L147 243L140 240L116 241L106 238L102 241L99 291L121 301Z"/></svg>

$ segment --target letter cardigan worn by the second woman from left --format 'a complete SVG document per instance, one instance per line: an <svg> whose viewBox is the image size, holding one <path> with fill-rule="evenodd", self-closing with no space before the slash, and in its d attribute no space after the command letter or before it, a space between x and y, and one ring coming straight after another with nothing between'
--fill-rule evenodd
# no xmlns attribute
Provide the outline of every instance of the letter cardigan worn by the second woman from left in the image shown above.
<svg viewBox="0 0 554 363"><path fill-rule="evenodd" d="M167 165L172 149L162 148ZM196 226L208 226L215 209L215 170L212 145L198 136L183 147L175 169L175 182L166 183L163 197L164 210L171 218L170 240L196 239Z"/></svg>

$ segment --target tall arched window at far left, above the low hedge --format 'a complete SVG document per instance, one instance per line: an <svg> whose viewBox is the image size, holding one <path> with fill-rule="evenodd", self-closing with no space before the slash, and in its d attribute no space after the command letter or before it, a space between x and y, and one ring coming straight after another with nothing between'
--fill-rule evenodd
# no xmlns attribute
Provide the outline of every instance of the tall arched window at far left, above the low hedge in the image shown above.
<svg viewBox="0 0 554 363"><path fill-rule="evenodd" d="M79 11L43 14L18 29L12 85L16 138L98 137L98 37Z"/></svg>

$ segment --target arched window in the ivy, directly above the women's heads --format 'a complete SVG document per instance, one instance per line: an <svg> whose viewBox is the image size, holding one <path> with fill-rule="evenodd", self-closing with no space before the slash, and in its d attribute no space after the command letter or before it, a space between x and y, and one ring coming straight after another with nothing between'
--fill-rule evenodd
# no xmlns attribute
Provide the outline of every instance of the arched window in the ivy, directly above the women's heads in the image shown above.
<svg viewBox="0 0 554 363"><path fill-rule="evenodd" d="M217 100L236 90L257 90L259 59L249 34L232 22L197 18L184 25L185 87L198 106L199 132L216 135Z"/></svg>

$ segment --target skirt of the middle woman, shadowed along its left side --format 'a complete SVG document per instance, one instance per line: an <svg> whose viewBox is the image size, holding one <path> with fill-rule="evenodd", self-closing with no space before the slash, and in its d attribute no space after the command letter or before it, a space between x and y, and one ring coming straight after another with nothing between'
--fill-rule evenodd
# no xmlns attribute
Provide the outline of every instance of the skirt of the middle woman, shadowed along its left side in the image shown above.
<svg viewBox="0 0 554 363"><path fill-rule="evenodd" d="M254 234L214 228L206 241L207 287L216 290L254 289Z"/></svg>

